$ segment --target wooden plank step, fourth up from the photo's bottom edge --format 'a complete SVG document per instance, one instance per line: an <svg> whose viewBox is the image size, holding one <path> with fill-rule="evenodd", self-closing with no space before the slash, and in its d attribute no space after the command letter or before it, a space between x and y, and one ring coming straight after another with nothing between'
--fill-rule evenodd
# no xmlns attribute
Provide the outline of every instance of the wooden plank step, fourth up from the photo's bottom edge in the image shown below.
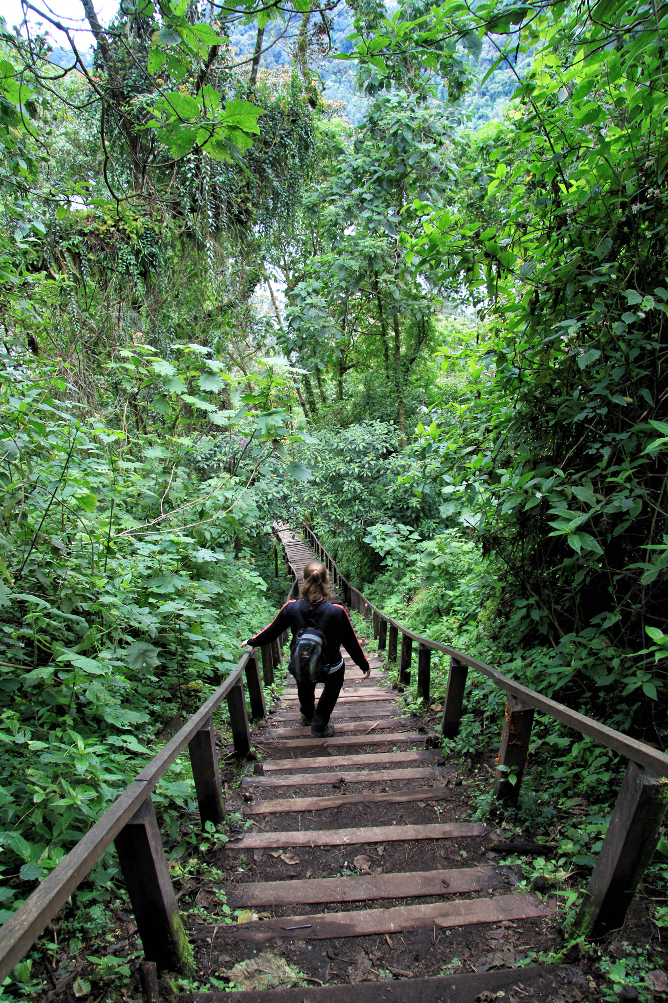
<svg viewBox="0 0 668 1003"><path fill-rule="evenodd" d="M347 847L358 843L404 843L406 840L464 840L484 835L479 821L430 822L426 825L363 825L361 828L321 828L289 832L249 832L231 839L226 850L262 850L265 847Z"/></svg>

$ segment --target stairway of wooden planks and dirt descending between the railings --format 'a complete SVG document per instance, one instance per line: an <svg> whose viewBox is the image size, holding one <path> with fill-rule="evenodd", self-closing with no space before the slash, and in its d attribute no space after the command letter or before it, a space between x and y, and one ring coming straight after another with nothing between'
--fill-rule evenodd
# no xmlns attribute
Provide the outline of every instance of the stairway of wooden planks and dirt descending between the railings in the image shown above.
<svg viewBox="0 0 668 1003"><path fill-rule="evenodd" d="M290 530L281 537L301 581L315 555ZM372 675L362 680L345 653L334 737L314 739L296 724L290 676L280 709L254 733L262 760L242 783L251 826L228 844L236 878L225 886L229 905L249 913L234 927L205 924L198 938L222 951L229 967L253 956L253 946L285 956L306 973L314 1003L333 1000L337 983L347 985L347 998L360 1000L454 1003L518 984L522 998L550 999L557 978L551 968L487 971L493 967L487 963L478 971L475 938L487 953L489 941L475 928L495 931L493 942L525 924L531 944L551 923L550 906L519 893L516 871L485 856L490 833L465 820L466 794L453 767L429 747L435 736L418 730L368 639L361 641ZM446 959L453 943L452 966ZM350 995L369 981L373 992L367 986L361 996ZM304 989L295 992L232 992L221 999L301 1003Z"/></svg>

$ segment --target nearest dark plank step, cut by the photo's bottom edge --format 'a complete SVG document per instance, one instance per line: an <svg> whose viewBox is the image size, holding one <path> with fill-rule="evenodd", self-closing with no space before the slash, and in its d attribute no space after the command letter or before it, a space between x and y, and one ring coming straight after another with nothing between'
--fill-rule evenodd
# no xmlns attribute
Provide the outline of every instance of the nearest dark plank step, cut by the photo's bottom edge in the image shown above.
<svg viewBox="0 0 668 1003"><path fill-rule="evenodd" d="M348 1003L475 1003L483 993L488 993L488 998L491 999L497 990L507 987L512 989L517 985L530 988L538 983L541 983L542 992L547 990L549 998L556 999L556 980L560 974L556 965L532 965L529 968L467 972L464 975L357 982L350 986L309 986L308 990L303 986L284 986L280 989L264 989L261 995L255 989L181 993L175 996L175 1003L258 1003L259 998L262 1003L304 1003L305 999L309 1003L341 1003L342 990Z"/></svg>

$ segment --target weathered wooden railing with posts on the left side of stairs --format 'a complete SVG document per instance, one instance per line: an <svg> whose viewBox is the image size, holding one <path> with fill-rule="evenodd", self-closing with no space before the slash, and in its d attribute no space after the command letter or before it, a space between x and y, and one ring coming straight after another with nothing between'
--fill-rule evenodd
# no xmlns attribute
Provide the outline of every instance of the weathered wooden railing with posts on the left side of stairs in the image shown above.
<svg viewBox="0 0 668 1003"><path fill-rule="evenodd" d="M294 568L291 567L291 571L293 585L289 596L297 587ZM263 667L265 661L265 682L271 676L269 681L273 683L274 668L280 661L280 649L276 643L274 650L270 646L269 653L263 650ZM192 970L192 950L179 915L151 792L188 746L202 826L204 828L207 821L216 823L224 820L225 806L212 715L227 700L235 751L239 755L250 751L251 731L244 676L253 720L266 716L257 652L251 649L244 653L216 692L117 795L113 804L74 849L3 924L0 928L0 983L30 950L112 843L146 960L168 971L188 974Z"/></svg>

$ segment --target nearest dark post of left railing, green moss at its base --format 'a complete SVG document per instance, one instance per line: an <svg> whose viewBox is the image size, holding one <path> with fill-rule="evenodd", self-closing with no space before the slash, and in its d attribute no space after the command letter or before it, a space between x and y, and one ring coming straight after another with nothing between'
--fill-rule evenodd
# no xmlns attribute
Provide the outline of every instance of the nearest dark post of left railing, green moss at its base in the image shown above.
<svg viewBox="0 0 668 1003"><path fill-rule="evenodd" d="M179 915L150 794L113 842L146 960L165 971L191 974L193 950Z"/></svg>

